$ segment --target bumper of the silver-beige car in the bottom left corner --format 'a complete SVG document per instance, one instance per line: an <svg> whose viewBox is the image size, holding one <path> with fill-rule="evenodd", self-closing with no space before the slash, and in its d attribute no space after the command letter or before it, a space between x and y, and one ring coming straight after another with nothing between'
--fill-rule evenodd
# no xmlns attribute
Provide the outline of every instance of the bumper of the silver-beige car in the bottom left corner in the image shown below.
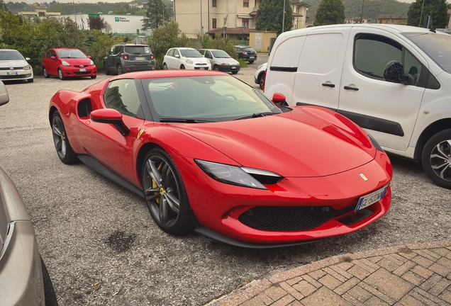
<svg viewBox="0 0 451 306"><path fill-rule="evenodd" d="M1 305L45 305L38 243L30 221L9 225L0 252L0 297Z"/></svg>

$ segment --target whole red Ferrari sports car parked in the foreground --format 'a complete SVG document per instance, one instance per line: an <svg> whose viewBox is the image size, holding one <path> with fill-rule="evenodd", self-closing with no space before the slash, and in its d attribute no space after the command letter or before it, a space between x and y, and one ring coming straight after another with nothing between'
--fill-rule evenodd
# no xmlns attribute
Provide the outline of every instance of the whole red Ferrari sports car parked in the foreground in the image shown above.
<svg viewBox="0 0 451 306"><path fill-rule="evenodd" d="M280 106L222 72L122 74L58 91L58 157L145 198L165 232L286 246L346 234L390 206L389 158L325 108Z"/></svg>

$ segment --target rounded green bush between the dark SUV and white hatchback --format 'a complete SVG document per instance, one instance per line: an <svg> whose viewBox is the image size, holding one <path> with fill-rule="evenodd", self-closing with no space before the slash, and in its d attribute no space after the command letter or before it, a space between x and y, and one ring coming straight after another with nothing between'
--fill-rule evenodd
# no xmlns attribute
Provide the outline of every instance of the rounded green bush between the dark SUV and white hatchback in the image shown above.
<svg viewBox="0 0 451 306"><path fill-rule="evenodd" d="M163 57L167 50L172 47L187 47L189 38L179 29L179 23L175 21L165 22L160 28L152 31L152 37L147 40L157 67L162 68Z"/></svg>

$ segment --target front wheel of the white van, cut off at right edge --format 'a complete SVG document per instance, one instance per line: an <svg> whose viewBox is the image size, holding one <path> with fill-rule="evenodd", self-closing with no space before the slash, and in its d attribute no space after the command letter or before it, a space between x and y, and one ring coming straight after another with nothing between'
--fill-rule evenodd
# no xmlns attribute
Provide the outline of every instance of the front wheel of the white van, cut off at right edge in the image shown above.
<svg viewBox="0 0 451 306"><path fill-rule="evenodd" d="M451 129L430 137L423 148L421 162L434 183L451 189Z"/></svg>

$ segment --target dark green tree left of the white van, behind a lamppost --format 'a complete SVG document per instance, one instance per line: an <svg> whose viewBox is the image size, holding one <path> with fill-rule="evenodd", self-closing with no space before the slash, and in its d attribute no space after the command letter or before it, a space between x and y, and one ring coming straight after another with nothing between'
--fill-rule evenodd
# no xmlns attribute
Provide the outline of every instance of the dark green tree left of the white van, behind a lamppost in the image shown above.
<svg viewBox="0 0 451 306"><path fill-rule="evenodd" d="M255 28L257 30L277 31L282 33L282 21L284 20L284 1L282 0L265 0L262 1L255 16ZM290 1L285 1L285 22L283 30L291 30L293 28L293 10Z"/></svg>

